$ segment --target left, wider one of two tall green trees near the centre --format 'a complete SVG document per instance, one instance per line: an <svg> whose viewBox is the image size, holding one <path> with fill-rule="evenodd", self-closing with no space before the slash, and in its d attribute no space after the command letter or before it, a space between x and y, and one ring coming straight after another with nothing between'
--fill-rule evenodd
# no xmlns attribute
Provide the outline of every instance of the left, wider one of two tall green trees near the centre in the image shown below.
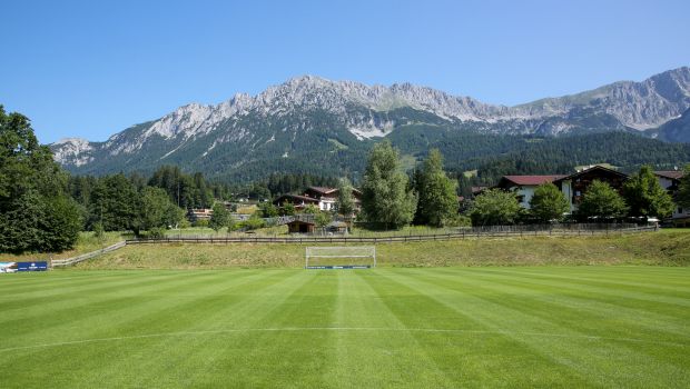
<svg viewBox="0 0 690 389"><path fill-rule="evenodd" d="M374 146L362 182L362 211L369 222L400 228L414 218L416 196L407 190L398 152L384 140Z"/></svg>

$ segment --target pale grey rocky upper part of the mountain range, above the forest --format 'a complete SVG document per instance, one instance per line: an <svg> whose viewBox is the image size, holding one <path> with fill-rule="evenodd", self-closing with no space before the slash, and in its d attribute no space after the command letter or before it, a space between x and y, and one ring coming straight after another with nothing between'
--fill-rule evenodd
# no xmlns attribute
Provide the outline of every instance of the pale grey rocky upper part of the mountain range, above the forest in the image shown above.
<svg viewBox="0 0 690 389"><path fill-rule="evenodd" d="M687 67L642 82L622 81L516 107L410 83L366 86L304 76L254 97L239 93L217 106L180 107L105 142L65 139L51 148L60 163L85 172L103 171L106 164L116 171L161 163L204 166L214 158L240 166L256 159L256 150L262 150L262 158L287 158L299 142L310 144L309 137L366 141L417 124L543 136L632 131L661 126L689 108Z"/></svg>

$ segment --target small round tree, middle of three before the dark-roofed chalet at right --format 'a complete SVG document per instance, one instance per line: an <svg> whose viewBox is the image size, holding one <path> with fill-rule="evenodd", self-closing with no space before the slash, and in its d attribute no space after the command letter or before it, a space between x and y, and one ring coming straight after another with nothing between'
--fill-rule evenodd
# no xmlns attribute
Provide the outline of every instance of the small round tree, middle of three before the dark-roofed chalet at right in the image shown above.
<svg viewBox="0 0 690 389"><path fill-rule="evenodd" d="M614 219L625 216L628 207L623 198L607 182L592 181L578 207L583 219Z"/></svg>

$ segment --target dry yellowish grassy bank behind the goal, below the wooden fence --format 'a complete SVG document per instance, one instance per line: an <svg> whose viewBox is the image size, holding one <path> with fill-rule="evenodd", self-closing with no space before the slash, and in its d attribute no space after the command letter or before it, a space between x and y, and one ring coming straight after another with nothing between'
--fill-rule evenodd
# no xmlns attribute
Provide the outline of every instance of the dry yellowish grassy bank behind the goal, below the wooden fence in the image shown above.
<svg viewBox="0 0 690 389"><path fill-rule="evenodd" d="M128 246L79 269L224 269L302 267L299 245ZM382 267L534 265L690 265L690 231L609 237L482 238L377 245Z"/></svg>

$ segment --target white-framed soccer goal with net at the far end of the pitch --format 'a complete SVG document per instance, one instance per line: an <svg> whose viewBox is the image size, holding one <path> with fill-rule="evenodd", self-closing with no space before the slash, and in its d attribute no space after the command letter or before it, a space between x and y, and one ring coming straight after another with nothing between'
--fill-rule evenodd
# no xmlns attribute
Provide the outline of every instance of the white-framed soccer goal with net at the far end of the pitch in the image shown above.
<svg viewBox="0 0 690 389"><path fill-rule="evenodd" d="M376 247L307 247L305 269L369 269L376 267Z"/></svg>

